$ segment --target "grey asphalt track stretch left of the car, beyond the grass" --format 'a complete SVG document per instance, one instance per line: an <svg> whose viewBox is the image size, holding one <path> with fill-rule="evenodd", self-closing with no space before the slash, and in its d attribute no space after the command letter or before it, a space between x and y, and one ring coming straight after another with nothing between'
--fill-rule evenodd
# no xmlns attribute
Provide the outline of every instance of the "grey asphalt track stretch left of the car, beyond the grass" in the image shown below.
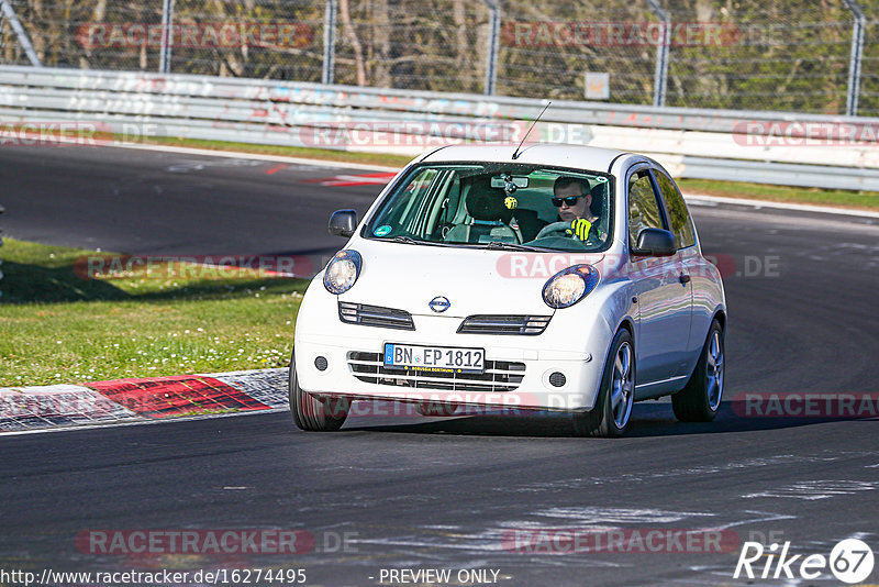
<svg viewBox="0 0 879 587"><path fill-rule="evenodd" d="M297 182L346 173L326 165L129 148L4 148L3 229L24 240L133 255L335 252L344 243L319 229L340 208L363 214L379 189Z"/></svg>

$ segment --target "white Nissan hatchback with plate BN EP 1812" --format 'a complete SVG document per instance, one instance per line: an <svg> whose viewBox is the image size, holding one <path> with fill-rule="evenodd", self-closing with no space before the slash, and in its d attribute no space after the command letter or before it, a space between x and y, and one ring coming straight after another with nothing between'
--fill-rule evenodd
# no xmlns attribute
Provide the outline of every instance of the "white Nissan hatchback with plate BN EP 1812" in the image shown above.
<svg viewBox="0 0 879 587"><path fill-rule="evenodd" d="M565 411L615 436L635 401L708 421L726 306L690 213L656 162L616 151L452 146L418 157L311 283L290 409L337 430L353 400ZM566 420L567 421L567 420Z"/></svg>

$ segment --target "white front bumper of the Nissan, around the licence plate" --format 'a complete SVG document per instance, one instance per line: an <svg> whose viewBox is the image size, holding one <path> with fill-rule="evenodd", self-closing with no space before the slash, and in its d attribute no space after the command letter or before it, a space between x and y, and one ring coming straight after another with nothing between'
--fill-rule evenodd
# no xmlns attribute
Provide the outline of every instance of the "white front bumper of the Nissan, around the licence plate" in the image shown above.
<svg viewBox="0 0 879 587"><path fill-rule="evenodd" d="M461 334L460 317L423 314L412 317L415 330L396 330L344 323L336 297L322 287L310 288L296 326L299 386L316 395L360 399L591 410L614 332L599 313L572 310L556 311L546 330L531 336ZM485 348L486 375L385 369L385 343ZM557 373L564 384L558 376L550 381Z"/></svg>

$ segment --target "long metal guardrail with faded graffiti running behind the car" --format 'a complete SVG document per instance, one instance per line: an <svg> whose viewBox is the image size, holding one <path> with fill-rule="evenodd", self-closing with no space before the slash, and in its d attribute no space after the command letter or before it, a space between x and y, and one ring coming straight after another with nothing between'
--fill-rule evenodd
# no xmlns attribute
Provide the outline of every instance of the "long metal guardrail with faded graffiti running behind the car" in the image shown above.
<svg viewBox="0 0 879 587"><path fill-rule="evenodd" d="M91 123L132 141L153 134L414 155L444 141L521 139L521 121L543 106L481 95L0 66L0 122ZM530 140L647 153L679 177L879 191L874 130L879 120L870 118L558 101Z"/></svg>

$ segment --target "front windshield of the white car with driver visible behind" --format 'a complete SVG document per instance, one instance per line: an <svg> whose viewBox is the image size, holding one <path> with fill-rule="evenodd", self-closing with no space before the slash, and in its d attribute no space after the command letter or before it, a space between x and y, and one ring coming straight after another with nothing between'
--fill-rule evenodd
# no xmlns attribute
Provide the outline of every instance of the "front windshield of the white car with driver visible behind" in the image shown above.
<svg viewBox="0 0 879 587"><path fill-rule="evenodd" d="M515 163L422 164L382 200L364 236L411 244L603 251L613 177Z"/></svg>

